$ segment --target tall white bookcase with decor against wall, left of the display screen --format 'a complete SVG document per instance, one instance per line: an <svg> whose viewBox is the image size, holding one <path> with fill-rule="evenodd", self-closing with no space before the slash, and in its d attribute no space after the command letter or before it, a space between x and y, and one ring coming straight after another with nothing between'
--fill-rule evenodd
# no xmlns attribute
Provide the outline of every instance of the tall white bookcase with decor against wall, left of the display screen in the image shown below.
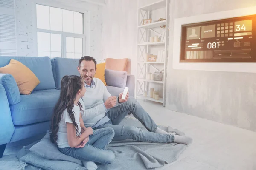
<svg viewBox="0 0 256 170"><path fill-rule="evenodd" d="M149 1L149 0L148 0ZM137 8L137 58L136 58L136 73L135 73L135 97L138 99L145 99L146 101L154 101L161 103L163 107L166 105L166 70L168 59L168 43L169 43L169 31L167 30L170 18L170 0L154 0L151 3L145 4L145 6L139 6ZM162 11L161 15L158 14ZM162 17L165 20L159 21L157 18ZM141 25L143 19L151 18L151 23ZM150 21L149 21L150 22ZM144 22L145 23L145 22ZM166 26L165 38L163 41L153 42L149 41L152 36L162 36L161 27ZM161 31L162 30L162 31ZM162 33L161 33L162 32ZM153 49L156 48L156 49ZM158 49L159 48L159 49ZM151 49L153 51L151 51ZM157 57L155 60L147 59L148 55L154 54ZM154 71L162 71L163 81L154 81L149 78L147 73ZM152 75L151 75L152 76ZM143 96L145 90L150 88L162 89L159 100L150 98L150 96ZM163 92L162 92L163 91Z"/></svg>

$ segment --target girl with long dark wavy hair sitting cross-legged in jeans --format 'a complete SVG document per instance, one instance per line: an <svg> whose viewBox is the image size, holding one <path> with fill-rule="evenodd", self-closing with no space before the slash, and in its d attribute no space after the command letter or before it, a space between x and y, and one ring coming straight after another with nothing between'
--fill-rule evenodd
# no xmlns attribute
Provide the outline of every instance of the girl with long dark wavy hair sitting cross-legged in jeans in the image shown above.
<svg viewBox="0 0 256 170"><path fill-rule="evenodd" d="M84 102L79 102L79 99L85 92L82 77L72 75L62 78L61 94L52 116L51 141L57 142L60 152L68 156L82 161L110 164L115 156L105 146L111 142L114 130L110 127L92 130L84 126L81 117Z"/></svg>

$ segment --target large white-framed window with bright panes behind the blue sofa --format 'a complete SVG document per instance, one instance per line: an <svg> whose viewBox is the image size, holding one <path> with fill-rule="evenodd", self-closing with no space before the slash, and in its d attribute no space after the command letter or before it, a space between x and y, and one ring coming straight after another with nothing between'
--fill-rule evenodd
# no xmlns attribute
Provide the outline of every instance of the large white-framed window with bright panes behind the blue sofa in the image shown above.
<svg viewBox="0 0 256 170"><path fill-rule="evenodd" d="M85 53L84 14L36 5L38 56L81 58Z"/></svg>

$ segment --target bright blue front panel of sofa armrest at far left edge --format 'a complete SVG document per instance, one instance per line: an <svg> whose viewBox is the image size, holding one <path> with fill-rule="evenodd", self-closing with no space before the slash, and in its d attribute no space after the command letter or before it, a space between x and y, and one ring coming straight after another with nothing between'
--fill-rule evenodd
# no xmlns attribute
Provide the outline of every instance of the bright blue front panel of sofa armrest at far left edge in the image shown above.
<svg viewBox="0 0 256 170"><path fill-rule="evenodd" d="M0 84L0 145L9 143L14 133L14 125L5 88Z"/></svg>

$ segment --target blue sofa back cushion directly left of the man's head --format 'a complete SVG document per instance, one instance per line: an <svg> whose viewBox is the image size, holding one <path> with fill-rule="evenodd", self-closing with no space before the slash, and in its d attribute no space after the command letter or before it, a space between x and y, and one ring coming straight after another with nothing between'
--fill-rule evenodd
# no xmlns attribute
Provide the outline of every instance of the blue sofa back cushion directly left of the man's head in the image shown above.
<svg viewBox="0 0 256 170"><path fill-rule="evenodd" d="M53 58L52 71L55 80L56 89L61 89L61 79L65 75L80 75L77 71L79 59Z"/></svg>

